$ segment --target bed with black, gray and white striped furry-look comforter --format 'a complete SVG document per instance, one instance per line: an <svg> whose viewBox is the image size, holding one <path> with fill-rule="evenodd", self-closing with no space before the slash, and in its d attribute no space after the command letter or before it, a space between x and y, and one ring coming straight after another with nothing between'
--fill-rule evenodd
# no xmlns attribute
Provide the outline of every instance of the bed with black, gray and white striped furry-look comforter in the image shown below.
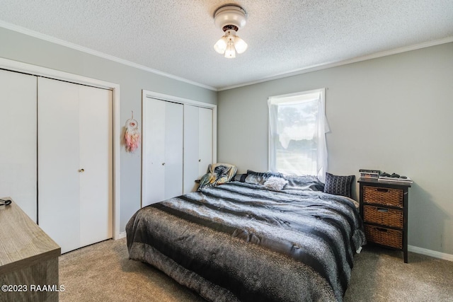
<svg viewBox="0 0 453 302"><path fill-rule="evenodd" d="M357 204L314 178L244 175L139 209L130 259L207 301L342 301L365 244Z"/></svg>

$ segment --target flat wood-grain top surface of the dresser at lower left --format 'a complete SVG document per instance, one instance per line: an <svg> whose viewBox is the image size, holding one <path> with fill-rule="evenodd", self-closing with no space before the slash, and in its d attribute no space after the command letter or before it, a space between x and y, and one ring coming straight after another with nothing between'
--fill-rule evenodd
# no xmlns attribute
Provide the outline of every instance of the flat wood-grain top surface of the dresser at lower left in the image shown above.
<svg viewBox="0 0 453 302"><path fill-rule="evenodd" d="M61 255L61 248L11 199L0 206L0 275Z"/></svg>

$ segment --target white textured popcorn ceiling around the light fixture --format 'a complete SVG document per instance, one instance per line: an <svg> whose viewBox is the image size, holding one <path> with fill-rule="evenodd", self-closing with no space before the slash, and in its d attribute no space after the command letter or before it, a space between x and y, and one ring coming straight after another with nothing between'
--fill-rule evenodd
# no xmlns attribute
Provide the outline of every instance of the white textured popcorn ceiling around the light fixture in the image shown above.
<svg viewBox="0 0 453 302"><path fill-rule="evenodd" d="M225 59L213 13L239 4ZM0 21L214 90L453 37L453 0L0 0ZM1 45L1 44L0 44Z"/></svg>

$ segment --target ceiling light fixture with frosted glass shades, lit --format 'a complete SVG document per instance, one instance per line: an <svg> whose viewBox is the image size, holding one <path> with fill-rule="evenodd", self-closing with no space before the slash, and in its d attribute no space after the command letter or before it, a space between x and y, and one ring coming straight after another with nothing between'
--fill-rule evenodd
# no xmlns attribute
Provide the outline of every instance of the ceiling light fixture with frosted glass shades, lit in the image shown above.
<svg viewBox="0 0 453 302"><path fill-rule="evenodd" d="M246 25L246 11L241 6L220 6L214 13L214 23L225 33L214 45L216 52L225 54L226 58L234 58L236 52L241 54L246 51L247 43L236 35L236 32Z"/></svg>

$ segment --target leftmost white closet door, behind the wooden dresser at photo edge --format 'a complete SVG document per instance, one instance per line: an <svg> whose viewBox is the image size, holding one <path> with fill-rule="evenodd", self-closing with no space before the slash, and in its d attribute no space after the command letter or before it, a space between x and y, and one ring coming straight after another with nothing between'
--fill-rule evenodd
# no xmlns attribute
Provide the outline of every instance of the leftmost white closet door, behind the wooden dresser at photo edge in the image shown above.
<svg viewBox="0 0 453 302"><path fill-rule="evenodd" d="M36 76L0 70L0 198L36 222Z"/></svg>

